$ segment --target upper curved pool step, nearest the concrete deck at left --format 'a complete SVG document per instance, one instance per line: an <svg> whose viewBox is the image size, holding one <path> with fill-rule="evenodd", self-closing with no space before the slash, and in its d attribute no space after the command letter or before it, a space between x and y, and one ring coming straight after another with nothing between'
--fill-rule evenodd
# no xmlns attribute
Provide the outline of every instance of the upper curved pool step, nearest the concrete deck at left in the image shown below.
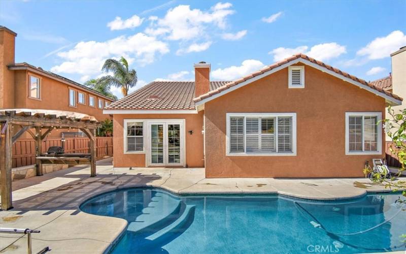
<svg viewBox="0 0 406 254"><path fill-rule="evenodd" d="M184 204L170 196L156 195L151 199L148 207L143 209L143 214L136 221L129 223L127 231L144 233L160 229L171 224L184 209Z"/></svg>

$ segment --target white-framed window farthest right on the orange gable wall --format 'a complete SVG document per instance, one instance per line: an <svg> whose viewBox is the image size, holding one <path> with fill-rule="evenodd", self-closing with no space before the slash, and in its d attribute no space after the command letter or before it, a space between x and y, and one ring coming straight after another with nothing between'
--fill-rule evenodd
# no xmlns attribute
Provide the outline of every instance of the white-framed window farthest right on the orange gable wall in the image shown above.
<svg viewBox="0 0 406 254"><path fill-rule="evenodd" d="M346 154L381 154L381 112L346 113Z"/></svg>

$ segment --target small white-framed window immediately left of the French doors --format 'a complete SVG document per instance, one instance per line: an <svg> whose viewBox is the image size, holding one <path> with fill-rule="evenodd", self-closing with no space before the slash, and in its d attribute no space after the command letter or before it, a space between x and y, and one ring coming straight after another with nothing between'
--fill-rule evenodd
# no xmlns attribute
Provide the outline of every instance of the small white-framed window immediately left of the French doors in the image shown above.
<svg viewBox="0 0 406 254"><path fill-rule="evenodd" d="M144 151L144 123L138 121L125 121L124 149L125 152Z"/></svg>

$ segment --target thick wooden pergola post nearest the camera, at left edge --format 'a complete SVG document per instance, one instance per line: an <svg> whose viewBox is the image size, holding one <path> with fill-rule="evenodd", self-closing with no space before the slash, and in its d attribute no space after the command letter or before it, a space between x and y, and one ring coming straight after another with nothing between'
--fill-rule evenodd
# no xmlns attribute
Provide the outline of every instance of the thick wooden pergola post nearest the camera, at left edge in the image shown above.
<svg viewBox="0 0 406 254"><path fill-rule="evenodd" d="M7 124L5 133L0 137L0 183L2 185L2 210L8 210L13 208L12 203L12 188L11 188L11 159L12 159L12 145L13 135L11 132L12 124ZM3 126L4 126L3 124Z"/></svg>

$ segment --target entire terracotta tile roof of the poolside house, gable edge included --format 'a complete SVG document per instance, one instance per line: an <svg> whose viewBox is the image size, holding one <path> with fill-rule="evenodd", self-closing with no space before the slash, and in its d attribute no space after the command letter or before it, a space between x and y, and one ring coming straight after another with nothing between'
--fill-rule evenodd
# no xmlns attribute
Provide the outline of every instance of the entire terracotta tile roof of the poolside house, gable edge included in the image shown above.
<svg viewBox="0 0 406 254"><path fill-rule="evenodd" d="M128 96L110 104L106 110L192 110L195 109L195 102L209 98L214 94L227 90L228 88L244 82L248 79L261 75L267 71L273 70L279 66L288 63L289 61L302 58L309 60L317 65L324 67L330 71L340 74L344 77L361 83L364 86L373 88L379 92L386 94L396 100L402 100L396 94L393 94L386 89L368 83L363 79L359 79L339 69L333 68L325 63L315 60L304 54L295 54L282 61L276 62L273 65L251 73L243 78L234 81L211 81L210 91L201 96L194 98L194 82L193 81L154 81L148 85L132 92Z"/></svg>

